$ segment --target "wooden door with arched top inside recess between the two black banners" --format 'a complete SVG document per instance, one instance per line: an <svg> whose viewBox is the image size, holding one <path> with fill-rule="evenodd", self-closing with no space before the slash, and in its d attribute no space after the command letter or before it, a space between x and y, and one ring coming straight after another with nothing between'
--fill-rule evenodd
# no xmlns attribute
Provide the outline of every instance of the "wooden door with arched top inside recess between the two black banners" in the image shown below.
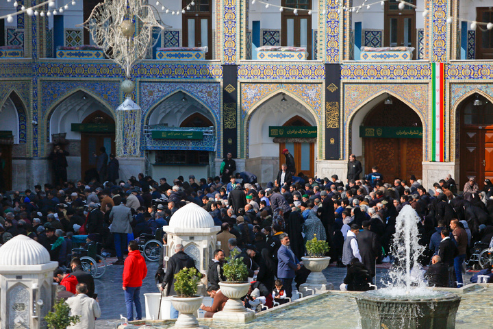
<svg viewBox="0 0 493 329"><path fill-rule="evenodd" d="M311 127L312 125L296 115L286 121L283 127ZM315 169L315 141L313 138L285 138L283 141L279 142L279 170L281 170L281 164L283 164L284 155L282 154L283 149L288 149L290 154L294 158L294 164L296 167L296 175L298 173L303 173L308 177L314 176Z"/></svg>

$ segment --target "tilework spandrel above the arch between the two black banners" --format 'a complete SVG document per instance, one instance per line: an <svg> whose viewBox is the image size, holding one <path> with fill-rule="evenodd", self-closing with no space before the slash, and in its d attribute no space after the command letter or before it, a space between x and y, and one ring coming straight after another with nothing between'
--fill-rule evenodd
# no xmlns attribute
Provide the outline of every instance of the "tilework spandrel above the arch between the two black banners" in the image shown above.
<svg viewBox="0 0 493 329"><path fill-rule="evenodd" d="M286 90L290 95L305 101L316 112L320 120L323 110L321 84L242 84L242 119L252 108L263 103L279 90Z"/></svg>

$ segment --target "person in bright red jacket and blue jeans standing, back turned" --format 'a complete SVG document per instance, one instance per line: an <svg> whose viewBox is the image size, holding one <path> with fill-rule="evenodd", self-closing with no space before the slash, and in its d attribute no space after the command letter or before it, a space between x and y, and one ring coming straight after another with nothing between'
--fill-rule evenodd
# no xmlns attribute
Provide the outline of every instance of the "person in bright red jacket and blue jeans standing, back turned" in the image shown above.
<svg viewBox="0 0 493 329"><path fill-rule="evenodd" d="M129 256L123 267L123 290L125 290L125 304L127 304L127 319L134 320L134 304L136 306L136 320L142 319L142 305L140 304L140 287L142 280L147 276L147 266L144 257L139 252L136 241L130 241Z"/></svg>

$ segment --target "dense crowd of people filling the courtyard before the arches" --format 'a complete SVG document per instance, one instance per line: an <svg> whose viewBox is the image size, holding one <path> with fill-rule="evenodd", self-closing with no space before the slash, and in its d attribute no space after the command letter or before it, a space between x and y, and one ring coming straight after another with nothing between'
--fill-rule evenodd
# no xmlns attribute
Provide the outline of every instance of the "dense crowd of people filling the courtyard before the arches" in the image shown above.
<svg viewBox="0 0 493 329"><path fill-rule="evenodd" d="M214 305L203 306L207 316L212 316L225 303L218 282L225 280L223 265L232 253L249 269L253 284L245 304L256 308L260 303L270 307L286 302L292 297L292 283L299 287L305 282L309 271L300 260L305 256L306 241L314 237L329 243L327 256L337 266L348 268L340 289L371 289L376 263L391 256L396 217L406 205L421 219L420 244L427 247L421 265L430 265L427 278L431 285L462 287L462 267L470 249L477 241L490 243L493 237L490 180L480 188L471 178L457 194L457 184L448 175L428 191L414 175L407 180L386 181L378 167L362 178L361 163L354 155L345 179L338 175L307 177L296 174L287 149L283 154L287 164L281 165L277 180L265 186L253 173L235 173L231 154L221 164L218 176L199 180L194 175L188 180L180 176L170 181L173 184L142 173L119 182L98 182L93 177L62 183L57 176L60 184L36 185L34 191L1 195L0 243L25 234L44 245L60 268L74 269L80 261L71 255L73 235L87 235L87 242L100 245L105 256L117 257L114 265L127 266L125 254L129 259L138 253L135 245L127 243L129 234L155 234L168 225L177 209L193 202L220 226L217 241L221 249L214 252L207 276L207 291L214 297ZM166 241L166 235L163 239ZM156 273L167 293L173 293L173 275L190 263L183 246L175 247L176 254L166 271L161 260ZM135 266L142 260L132 262ZM57 273L54 278L66 283L66 291L71 293L77 293L77 284L85 284L91 297L94 282L78 280L74 284L71 276L75 273ZM136 281L142 284L142 278ZM138 289L125 288L127 308L131 310L132 302L140 306ZM81 287L79 293L86 290ZM140 317L138 309L136 318Z"/></svg>

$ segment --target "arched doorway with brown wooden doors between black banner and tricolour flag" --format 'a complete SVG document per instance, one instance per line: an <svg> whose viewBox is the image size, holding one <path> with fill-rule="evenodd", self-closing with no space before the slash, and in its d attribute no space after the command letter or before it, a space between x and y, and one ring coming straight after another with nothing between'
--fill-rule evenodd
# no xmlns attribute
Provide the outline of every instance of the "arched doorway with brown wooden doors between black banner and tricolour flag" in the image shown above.
<svg viewBox="0 0 493 329"><path fill-rule="evenodd" d="M388 97L368 112L359 136L364 139L364 172L379 167L385 182L422 177L422 123L403 101Z"/></svg>

